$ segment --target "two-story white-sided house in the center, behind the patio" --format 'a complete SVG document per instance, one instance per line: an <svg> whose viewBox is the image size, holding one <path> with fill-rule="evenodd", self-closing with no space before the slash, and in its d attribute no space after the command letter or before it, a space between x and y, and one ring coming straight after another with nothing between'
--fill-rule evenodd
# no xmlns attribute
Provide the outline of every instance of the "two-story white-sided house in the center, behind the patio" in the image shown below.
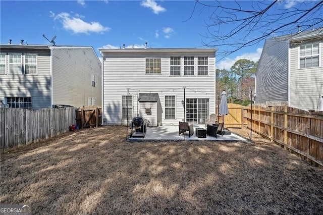
<svg viewBox="0 0 323 215"><path fill-rule="evenodd" d="M100 51L103 124L131 123L137 116L149 120L150 126L200 124L215 112L217 49Z"/></svg>

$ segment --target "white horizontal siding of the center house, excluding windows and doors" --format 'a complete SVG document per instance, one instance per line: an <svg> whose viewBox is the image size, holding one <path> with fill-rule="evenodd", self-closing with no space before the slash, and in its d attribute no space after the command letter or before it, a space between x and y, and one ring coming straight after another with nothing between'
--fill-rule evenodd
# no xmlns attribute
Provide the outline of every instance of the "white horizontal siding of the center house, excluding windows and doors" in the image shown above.
<svg viewBox="0 0 323 215"><path fill-rule="evenodd" d="M207 76L170 76L171 56L204 56L208 57ZM161 58L161 74L145 73L145 58ZM182 100L185 98L209 98L209 114L215 113L215 57L210 53L104 53L103 58L103 124L127 123L122 119L122 96L133 96L133 116L137 114L137 93L158 93L161 109L161 120L164 125L176 124L184 119ZM183 62L182 62L183 65ZM184 68L181 68L182 75ZM197 61L195 62L197 75ZM176 96L176 119L165 119L165 96ZM139 102L138 102L139 103ZM158 107L157 107L158 108ZM158 117L158 116L157 116ZM159 117L158 117L159 118ZM131 119L130 119L131 121Z"/></svg>

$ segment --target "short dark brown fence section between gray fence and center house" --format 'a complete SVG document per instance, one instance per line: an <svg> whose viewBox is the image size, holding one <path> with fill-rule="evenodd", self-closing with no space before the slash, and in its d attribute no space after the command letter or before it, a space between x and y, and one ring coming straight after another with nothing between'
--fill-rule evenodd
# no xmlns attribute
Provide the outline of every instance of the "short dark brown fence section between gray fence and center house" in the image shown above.
<svg viewBox="0 0 323 215"><path fill-rule="evenodd" d="M76 109L76 125L80 128L97 127L102 123L101 106L82 106Z"/></svg>

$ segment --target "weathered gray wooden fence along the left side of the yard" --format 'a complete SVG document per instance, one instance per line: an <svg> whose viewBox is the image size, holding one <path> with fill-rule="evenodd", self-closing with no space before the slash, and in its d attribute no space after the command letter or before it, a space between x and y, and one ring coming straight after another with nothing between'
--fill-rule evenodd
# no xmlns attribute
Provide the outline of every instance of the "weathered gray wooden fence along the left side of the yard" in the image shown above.
<svg viewBox="0 0 323 215"><path fill-rule="evenodd" d="M1 152L65 133L75 124L75 108L0 108Z"/></svg>

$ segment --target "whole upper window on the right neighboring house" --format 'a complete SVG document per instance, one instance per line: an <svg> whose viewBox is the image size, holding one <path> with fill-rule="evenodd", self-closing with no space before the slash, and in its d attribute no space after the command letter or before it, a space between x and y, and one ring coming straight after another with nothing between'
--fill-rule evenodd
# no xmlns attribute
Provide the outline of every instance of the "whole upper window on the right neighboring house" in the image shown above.
<svg viewBox="0 0 323 215"><path fill-rule="evenodd" d="M319 43L307 43L299 48L299 68L319 66Z"/></svg>

